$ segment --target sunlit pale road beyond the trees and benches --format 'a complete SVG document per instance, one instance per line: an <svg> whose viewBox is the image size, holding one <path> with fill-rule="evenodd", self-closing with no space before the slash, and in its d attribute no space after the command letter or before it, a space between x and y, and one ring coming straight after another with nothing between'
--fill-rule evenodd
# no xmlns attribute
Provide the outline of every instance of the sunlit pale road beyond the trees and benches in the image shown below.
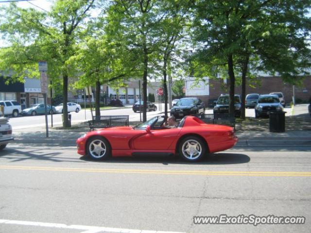
<svg viewBox="0 0 311 233"><path fill-rule="evenodd" d="M157 111L147 112L147 119L153 116L156 116L160 114L161 112L164 112L164 104L162 104L161 106L162 111L160 111L158 104L156 104L156 106L157 106ZM284 111L287 112L286 116L291 114L290 108L285 108ZM308 111L308 109L306 111ZM205 113L212 114L213 110L206 109ZM70 114L71 114L72 123L77 123L77 122L82 122L82 121L92 119L91 112L89 110L86 110L86 111L81 110L79 113L72 112ZM93 114L95 115L95 112L93 112ZM102 116L129 115L130 121L140 120L139 112L134 113L132 110L132 106L126 106L125 108L119 108L119 109L103 110L101 111L101 115ZM255 110L246 109L246 116L255 117ZM53 117L53 126L62 125L62 114L54 114L52 117ZM142 113L141 113L141 118L142 118ZM12 117L10 118L10 124L12 125L12 128L15 130L24 129L24 128L32 128L32 127L37 127L37 126L45 126L45 116L40 115L40 116L19 116L16 118ZM51 126L51 115L48 115L48 124L50 127Z"/></svg>

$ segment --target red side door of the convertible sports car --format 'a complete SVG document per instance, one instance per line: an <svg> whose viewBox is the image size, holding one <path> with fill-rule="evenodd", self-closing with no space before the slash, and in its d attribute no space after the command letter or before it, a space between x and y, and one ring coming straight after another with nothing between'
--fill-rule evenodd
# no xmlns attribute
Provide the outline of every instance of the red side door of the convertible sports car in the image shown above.
<svg viewBox="0 0 311 233"><path fill-rule="evenodd" d="M134 140L136 150L167 150L177 138L181 128L151 130Z"/></svg>

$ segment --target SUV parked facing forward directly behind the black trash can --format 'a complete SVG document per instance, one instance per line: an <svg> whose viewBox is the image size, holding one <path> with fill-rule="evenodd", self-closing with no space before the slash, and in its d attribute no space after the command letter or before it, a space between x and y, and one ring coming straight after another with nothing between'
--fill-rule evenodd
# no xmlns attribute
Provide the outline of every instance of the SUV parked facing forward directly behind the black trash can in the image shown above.
<svg viewBox="0 0 311 233"><path fill-rule="evenodd" d="M276 95L260 95L255 107L255 117L268 116L269 112L282 112L283 105Z"/></svg>

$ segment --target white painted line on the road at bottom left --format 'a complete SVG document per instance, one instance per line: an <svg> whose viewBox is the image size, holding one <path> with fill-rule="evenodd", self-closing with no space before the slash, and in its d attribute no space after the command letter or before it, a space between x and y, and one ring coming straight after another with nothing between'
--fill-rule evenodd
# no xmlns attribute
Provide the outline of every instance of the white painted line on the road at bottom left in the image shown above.
<svg viewBox="0 0 311 233"><path fill-rule="evenodd" d="M146 231L135 229L122 229L112 227L97 227L97 226L84 226L84 225L66 225L62 223L49 223L49 222L30 222L19 220L0 219L0 224L13 224L24 226L39 226L39 227L52 227L61 229L83 230L81 233L100 233L100 232L114 232L114 233L182 233L182 232L165 232L165 231Z"/></svg>

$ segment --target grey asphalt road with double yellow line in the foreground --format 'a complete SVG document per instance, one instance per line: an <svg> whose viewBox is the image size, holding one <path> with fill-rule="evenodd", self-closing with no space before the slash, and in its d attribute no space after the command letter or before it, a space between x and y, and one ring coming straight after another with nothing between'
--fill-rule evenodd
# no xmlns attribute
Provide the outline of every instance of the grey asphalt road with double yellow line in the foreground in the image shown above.
<svg viewBox="0 0 311 233"><path fill-rule="evenodd" d="M231 149L188 164L93 162L72 147L10 144L0 154L0 232L310 233L310 150ZM305 216L306 223L193 224L193 216L221 214Z"/></svg>

